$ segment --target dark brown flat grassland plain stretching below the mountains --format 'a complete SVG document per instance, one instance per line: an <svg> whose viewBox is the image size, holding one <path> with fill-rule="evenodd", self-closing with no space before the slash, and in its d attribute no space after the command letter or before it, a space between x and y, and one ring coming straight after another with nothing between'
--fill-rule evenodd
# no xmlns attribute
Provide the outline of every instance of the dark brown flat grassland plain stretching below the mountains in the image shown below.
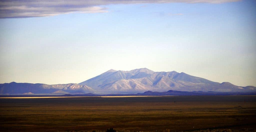
<svg viewBox="0 0 256 132"><path fill-rule="evenodd" d="M0 99L1 131L255 129L255 119L251 95Z"/></svg>

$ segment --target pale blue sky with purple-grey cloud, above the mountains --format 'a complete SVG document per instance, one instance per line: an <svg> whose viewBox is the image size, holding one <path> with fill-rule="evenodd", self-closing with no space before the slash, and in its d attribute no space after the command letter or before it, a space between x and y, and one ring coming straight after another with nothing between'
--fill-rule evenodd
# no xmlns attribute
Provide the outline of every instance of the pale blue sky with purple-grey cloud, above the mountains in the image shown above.
<svg viewBox="0 0 256 132"><path fill-rule="evenodd" d="M0 2L0 83L144 67L256 86L256 1Z"/></svg>

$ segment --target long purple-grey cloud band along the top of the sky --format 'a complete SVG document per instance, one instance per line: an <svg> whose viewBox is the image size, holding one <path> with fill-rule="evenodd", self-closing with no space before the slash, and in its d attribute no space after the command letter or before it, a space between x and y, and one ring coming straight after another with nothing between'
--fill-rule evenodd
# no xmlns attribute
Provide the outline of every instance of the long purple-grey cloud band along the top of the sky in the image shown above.
<svg viewBox="0 0 256 132"><path fill-rule="evenodd" d="M55 16L69 13L105 13L109 4L142 3L212 3L239 0L1 0L0 18L27 18Z"/></svg>

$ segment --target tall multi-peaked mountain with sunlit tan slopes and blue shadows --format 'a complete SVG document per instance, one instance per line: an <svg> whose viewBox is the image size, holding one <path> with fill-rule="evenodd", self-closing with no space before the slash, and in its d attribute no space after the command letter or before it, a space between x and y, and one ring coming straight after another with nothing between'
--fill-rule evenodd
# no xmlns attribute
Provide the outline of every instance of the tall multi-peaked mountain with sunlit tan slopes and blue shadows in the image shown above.
<svg viewBox="0 0 256 132"><path fill-rule="evenodd" d="M250 92L253 86L236 86L229 82L213 82L186 73L154 72L147 68L130 71L108 70L105 73L79 83L92 87L99 93L136 93L144 91L214 91L214 92Z"/></svg>

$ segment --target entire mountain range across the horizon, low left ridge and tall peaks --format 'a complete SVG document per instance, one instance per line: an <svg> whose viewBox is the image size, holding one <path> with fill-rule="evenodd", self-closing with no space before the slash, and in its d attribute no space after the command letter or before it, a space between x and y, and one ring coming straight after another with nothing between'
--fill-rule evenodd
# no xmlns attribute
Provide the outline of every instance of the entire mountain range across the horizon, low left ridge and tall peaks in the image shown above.
<svg viewBox="0 0 256 132"><path fill-rule="evenodd" d="M213 82L176 71L154 72L147 68L130 71L108 70L81 83L47 85L41 83L3 83L0 94L116 94L145 91L255 92L254 86L236 86L229 82Z"/></svg>

